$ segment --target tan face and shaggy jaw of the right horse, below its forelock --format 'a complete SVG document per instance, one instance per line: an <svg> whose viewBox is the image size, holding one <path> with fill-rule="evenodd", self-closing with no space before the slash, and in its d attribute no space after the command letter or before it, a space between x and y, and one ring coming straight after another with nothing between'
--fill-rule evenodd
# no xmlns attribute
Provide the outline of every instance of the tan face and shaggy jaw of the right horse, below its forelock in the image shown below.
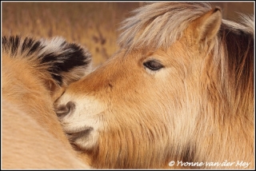
<svg viewBox="0 0 256 171"><path fill-rule="evenodd" d="M56 101L70 141L92 153L97 167L168 166L170 151L190 153L187 144L197 117L190 109L200 104L206 57L191 43L190 30L166 49L120 50ZM170 148L174 141L180 146Z"/></svg>

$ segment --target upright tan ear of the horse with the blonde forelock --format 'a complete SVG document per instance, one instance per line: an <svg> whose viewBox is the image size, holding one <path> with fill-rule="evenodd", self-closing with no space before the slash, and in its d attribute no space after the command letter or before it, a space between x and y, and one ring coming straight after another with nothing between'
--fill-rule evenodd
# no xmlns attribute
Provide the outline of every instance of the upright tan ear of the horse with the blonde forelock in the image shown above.
<svg viewBox="0 0 256 171"><path fill-rule="evenodd" d="M198 42L208 41L215 37L222 24L222 11L216 7L194 20L192 31L197 36Z"/></svg>

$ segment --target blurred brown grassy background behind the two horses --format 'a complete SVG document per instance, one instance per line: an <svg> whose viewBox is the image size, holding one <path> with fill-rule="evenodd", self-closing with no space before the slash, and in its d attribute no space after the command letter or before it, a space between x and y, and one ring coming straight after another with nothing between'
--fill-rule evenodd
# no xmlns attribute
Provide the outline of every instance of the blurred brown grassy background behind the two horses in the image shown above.
<svg viewBox="0 0 256 171"><path fill-rule="evenodd" d="M62 36L86 46L94 66L116 50L118 27L130 11L146 2L2 2L2 35L36 38ZM238 21L238 13L254 14L254 2L210 2L223 18Z"/></svg>

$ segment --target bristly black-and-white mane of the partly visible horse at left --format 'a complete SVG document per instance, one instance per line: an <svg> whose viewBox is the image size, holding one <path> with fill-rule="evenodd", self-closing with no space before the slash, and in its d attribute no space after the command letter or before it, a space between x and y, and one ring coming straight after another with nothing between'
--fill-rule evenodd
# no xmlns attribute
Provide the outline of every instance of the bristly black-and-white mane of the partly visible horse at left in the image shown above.
<svg viewBox="0 0 256 171"><path fill-rule="evenodd" d="M84 73L91 62L90 53L86 49L58 37L35 39L18 35L3 36L2 53L9 54L10 58L26 58L30 62L37 62L38 66L45 66L59 85L63 82L63 72L81 70Z"/></svg>

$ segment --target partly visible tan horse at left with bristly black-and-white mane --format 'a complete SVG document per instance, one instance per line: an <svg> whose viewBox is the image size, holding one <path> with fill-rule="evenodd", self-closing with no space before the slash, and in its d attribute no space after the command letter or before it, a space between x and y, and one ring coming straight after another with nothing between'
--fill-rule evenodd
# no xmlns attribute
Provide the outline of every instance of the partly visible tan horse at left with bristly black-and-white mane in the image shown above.
<svg viewBox="0 0 256 171"><path fill-rule="evenodd" d="M2 37L2 169L90 168L53 107L90 70L89 51L64 38Z"/></svg>

